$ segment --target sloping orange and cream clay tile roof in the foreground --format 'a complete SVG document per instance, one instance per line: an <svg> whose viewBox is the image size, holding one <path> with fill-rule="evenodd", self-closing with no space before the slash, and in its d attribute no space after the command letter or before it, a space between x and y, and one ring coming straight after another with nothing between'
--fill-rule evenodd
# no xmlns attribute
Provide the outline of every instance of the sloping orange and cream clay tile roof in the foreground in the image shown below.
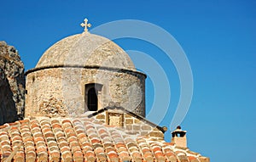
<svg viewBox="0 0 256 162"><path fill-rule="evenodd" d="M208 162L175 144L125 134L94 119L20 120L0 126L0 159L15 162Z"/></svg>

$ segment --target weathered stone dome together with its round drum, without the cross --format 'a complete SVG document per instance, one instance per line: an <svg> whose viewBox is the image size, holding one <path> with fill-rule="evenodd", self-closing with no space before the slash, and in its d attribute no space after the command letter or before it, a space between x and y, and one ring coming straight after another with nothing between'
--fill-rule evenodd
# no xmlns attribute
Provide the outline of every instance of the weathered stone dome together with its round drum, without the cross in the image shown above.
<svg viewBox="0 0 256 162"><path fill-rule="evenodd" d="M110 102L145 115L146 75L137 71L127 53L114 42L93 34L74 35L45 51L35 69L26 72L26 116L40 116L45 99L64 101L68 117L88 109L88 84L100 84L97 108Z"/></svg>

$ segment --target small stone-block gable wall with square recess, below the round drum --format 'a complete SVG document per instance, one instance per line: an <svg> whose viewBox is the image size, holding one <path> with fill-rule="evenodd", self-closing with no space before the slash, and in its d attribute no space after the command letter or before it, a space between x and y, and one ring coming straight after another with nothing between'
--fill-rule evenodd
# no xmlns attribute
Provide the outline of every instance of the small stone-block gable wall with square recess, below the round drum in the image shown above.
<svg viewBox="0 0 256 162"><path fill-rule="evenodd" d="M138 115L133 115L132 113L125 112L122 109L108 109L102 111L101 113L94 115L93 118L96 120L102 121L106 125L112 125L110 123L111 115L119 116L119 127L124 128L125 133L136 135L136 136L145 136L151 137L153 140L163 140L165 128L156 126L148 120L145 120L143 117ZM117 122L116 122L117 123ZM118 126L118 125L114 125Z"/></svg>

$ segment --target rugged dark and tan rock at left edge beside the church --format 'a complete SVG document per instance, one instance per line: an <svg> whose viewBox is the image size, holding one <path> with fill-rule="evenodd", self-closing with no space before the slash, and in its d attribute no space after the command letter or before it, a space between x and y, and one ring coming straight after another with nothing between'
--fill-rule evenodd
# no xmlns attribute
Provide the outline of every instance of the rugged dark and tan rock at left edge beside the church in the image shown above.
<svg viewBox="0 0 256 162"><path fill-rule="evenodd" d="M0 42L0 125L21 120L24 108L24 64L15 47Z"/></svg>

